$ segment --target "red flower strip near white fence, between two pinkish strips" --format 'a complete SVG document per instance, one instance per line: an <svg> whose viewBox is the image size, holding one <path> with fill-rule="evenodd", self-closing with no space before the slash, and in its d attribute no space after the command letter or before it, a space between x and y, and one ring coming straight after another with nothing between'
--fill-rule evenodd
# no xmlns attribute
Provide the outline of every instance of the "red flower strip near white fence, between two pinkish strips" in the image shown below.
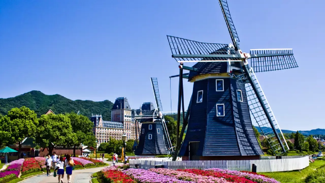
<svg viewBox="0 0 325 183"><path fill-rule="evenodd" d="M245 177L233 176L233 175L225 174L222 172L204 171L204 170L198 170L198 169L185 169L185 170L178 169L177 171L192 173L192 174L201 175L201 176L213 176L213 177L217 177L217 178L224 178L229 182L235 182L235 183L254 183L253 181L248 180Z"/></svg>

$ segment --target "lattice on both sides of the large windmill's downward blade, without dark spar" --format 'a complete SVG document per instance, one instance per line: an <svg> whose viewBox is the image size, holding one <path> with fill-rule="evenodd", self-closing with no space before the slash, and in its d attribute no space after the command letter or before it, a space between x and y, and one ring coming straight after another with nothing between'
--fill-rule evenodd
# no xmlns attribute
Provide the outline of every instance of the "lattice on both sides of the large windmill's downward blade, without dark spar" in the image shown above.
<svg viewBox="0 0 325 183"><path fill-rule="evenodd" d="M273 111L268 104L268 101L266 99L266 96L257 80L257 77L253 71L252 68L250 68L250 75L253 79L253 82L255 86L257 87L258 92L260 93L263 103L266 106L267 112L269 113L271 117L271 122L273 123L274 128L276 129L277 133L279 134L279 137L281 140L284 141L285 146L289 149L288 144L282 134L282 131L279 127L279 124L273 114ZM246 95L247 95L247 103L249 106L249 109L251 111L251 114L253 115L254 119L256 120L258 126L261 129L262 134L265 136L267 142L269 143L270 147L272 148L273 152L276 155L280 155L283 153L283 150L280 146L280 141L276 138L276 134L274 134L272 127L270 125L270 122L267 120L266 115L263 111L263 108L261 104L259 103L256 94L251 86L251 83L247 80L244 74L239 75L238 81L241 81L243 84L245 84L245 90L246 90Z"/></svg>

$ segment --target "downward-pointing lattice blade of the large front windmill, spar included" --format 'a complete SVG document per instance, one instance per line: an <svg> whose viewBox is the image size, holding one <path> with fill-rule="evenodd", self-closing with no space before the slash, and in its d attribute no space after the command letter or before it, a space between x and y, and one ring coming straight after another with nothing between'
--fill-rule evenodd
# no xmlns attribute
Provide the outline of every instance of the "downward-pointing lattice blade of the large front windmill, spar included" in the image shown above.
<svg viewBox="0 0 325 183"><path fill-rule="evenodd" d="M249 79L250 78L250 79ZM252 68L249 76L238 77L245 84L247 103L263 135L275 154L285 152L288 144ZM251 80L251 81L250 81ZM261 98L261 101L258 99ZM285 145L283 144L284 141Z"/></svg>

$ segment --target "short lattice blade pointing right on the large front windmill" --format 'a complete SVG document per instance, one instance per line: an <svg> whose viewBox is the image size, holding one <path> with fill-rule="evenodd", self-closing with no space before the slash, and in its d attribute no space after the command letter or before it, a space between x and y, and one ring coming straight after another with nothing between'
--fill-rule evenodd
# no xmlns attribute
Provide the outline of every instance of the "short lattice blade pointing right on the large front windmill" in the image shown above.
<svg viewBox="0 0 325 183"><path fill-rule="evenodd" d="M254 72L298 67L292 49L251 49L250 57Z"/></svg>

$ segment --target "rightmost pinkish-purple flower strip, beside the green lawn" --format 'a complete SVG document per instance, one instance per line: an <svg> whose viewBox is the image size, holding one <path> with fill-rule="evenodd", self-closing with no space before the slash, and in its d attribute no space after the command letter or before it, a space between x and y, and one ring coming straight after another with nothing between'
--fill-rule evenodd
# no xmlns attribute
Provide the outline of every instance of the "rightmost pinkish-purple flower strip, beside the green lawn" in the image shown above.
<svg viewBox="0 0 325 183"><path fill-rule="evenodd" d="M233 170L227 170L227 169L220 169L220 168L210 168L207 170L215 171L215 172L221 172L229 175L234 176L240 176L245 177L246 179L252 180L257 183L280 183L279 181L275 180L274 178L269 178L266 176L253 174L253 173L247 173L247 172L239 172L239 171L233 171Z"/></svg>

